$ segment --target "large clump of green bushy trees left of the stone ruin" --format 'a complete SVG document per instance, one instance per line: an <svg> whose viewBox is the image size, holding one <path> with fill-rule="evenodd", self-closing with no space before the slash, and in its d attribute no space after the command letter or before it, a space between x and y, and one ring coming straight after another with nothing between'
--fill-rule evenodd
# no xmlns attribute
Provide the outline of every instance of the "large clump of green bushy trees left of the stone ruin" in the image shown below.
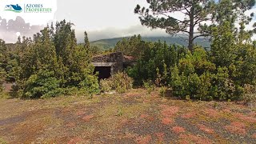
<svg viewBox="0 0 256 144"><path fill-rule="evenodd" d="M84 94L98 93L91 54L77 45L72 25L64 20L55 27L46 26L33 39L18 38L14 52L7 54L10 63L6 68L15 82L14 94L22 98L48 98L75 89Z"/></svg>

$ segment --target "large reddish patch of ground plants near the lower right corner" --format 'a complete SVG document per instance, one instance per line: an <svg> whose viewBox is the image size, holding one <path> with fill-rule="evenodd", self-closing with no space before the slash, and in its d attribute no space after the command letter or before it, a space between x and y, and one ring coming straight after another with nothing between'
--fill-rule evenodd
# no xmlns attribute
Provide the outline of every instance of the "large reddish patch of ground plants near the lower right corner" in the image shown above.
<svg viewBox="0 0 256 144"><path fill-rule="evenodd" d="M225 129L234 134L246 134L246 126L242 122L231 122L230 126L225 126Z"/></svg>

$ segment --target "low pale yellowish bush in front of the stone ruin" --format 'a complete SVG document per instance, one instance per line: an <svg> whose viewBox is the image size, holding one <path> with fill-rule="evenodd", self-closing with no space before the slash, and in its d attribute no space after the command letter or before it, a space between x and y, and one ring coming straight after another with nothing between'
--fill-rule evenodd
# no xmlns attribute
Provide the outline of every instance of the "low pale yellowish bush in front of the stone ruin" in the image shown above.
<svg viewBox="0 0 256 144"><path fill-rule="evenodd" d="M134 80L128 74L118 72L118 74L114 74L111 78L101 80L100 86L103 92L116 90L118 93L125 93L126 90L132 88L133 82Z"/></svg>

